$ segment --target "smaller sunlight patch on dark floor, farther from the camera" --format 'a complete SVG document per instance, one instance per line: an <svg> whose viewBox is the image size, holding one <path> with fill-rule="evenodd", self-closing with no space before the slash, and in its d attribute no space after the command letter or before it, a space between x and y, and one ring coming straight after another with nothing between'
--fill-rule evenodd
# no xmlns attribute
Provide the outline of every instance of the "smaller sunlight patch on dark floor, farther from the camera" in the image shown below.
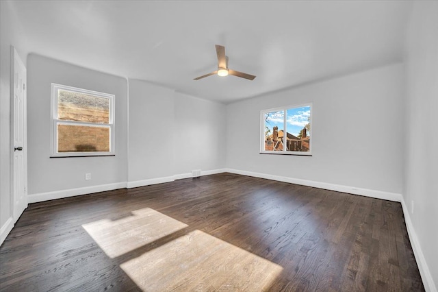
<svg viewBox="0 0 438 292"><path fill-rule="evenodd" d="M132 216L115 221L102 219L82 227L107 256L116 258L187 226L151 208L143 208L132 211Z"/></svg>

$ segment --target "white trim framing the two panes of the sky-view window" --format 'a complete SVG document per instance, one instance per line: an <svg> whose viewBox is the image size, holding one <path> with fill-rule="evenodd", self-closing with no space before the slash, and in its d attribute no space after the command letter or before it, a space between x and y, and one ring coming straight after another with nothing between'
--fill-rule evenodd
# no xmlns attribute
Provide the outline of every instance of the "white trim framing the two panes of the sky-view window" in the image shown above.
<svg viewBox="0 0 438 292"><path fill-rule="evenodd" d="M311 141L309 145L309 151L287 151L286 147L283 147L282 151L266 151L265 150L265 114L267 112L278 112L280 110L284 111L284 121L283 121L283 132L287 133L287 110L291 108L302 108L304 106L310 106L310 125L311 130L313 130L313 103L309 102L307 104L294 104L289 106L281 106L279 108L268 108L267 110L260 111L260 154L279 154L279 155L296 155L296 156L312 156L312 145Z"/></svg>

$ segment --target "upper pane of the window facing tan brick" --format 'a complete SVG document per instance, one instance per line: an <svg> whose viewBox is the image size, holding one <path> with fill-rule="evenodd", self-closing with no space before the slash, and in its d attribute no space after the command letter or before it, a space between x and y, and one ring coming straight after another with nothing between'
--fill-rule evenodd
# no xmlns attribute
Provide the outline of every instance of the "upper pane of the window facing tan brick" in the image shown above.
<svg viewBox="0 0 438 292"><path fill-rule="evenodd" d="M57 119L110 123L110 99L58 90Z"/></svg>

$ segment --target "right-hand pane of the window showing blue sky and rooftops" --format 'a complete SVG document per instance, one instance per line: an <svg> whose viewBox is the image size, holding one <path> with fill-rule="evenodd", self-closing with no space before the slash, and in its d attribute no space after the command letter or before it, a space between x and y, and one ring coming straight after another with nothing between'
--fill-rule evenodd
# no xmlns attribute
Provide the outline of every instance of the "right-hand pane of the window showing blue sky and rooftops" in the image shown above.
<svg viewBox="0 0 438 292"><path fill-rule="evenodd" d="M310 106L287 110L287 151L310 151Z"/></svg>

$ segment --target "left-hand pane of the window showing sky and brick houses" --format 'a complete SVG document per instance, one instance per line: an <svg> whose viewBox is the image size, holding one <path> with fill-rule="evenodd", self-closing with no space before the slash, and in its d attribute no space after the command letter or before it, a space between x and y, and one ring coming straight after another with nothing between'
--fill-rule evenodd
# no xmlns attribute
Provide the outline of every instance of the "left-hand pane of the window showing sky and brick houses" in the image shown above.
<svg viewBox="0 0 438 292"><path fill-rule="evenodd" d="M285 112L265 113L265 151L283 151Z"/></svg>

